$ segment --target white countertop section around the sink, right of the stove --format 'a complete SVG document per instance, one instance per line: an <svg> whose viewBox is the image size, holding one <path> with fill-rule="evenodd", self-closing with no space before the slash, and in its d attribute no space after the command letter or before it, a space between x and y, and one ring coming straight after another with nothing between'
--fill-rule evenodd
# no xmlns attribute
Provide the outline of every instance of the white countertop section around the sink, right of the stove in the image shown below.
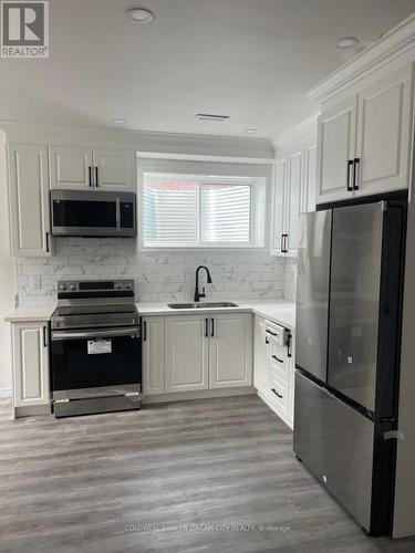
<svg viewBox="0 0 415 553"><path fill-rule="evenodd" d="M195 315L196 313L240 313L251 312L286 326L295 328L295 302L288 300L236 300L237 307L208 307L174 310L167 303L137 303L138 312L142 316L148 315Z"/></svg>

